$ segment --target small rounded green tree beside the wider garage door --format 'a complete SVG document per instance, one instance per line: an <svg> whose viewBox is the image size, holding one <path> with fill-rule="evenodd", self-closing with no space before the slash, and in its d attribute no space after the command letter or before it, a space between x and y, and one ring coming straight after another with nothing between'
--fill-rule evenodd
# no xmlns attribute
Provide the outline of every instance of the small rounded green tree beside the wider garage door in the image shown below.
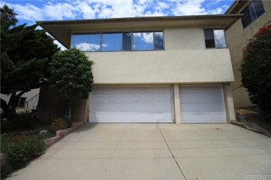
<svg viewBox="0 0 271 180"><path fill-rule="evenodd" d="M59 51L49 63L49 85L66 100L66 118L70 118L72 100L87 99L92 90L92 65L76 48Z"/></svg>

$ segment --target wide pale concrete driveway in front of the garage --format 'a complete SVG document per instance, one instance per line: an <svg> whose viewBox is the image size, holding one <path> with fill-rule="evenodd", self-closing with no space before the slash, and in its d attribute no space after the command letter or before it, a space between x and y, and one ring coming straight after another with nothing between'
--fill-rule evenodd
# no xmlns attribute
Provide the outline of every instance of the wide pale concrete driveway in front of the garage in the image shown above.
<svg viewBox="0 0 271 180"><path fill-rule="evenodd" d="M271 138L227 124L86 124L8 179L271 179Z"/></svg>

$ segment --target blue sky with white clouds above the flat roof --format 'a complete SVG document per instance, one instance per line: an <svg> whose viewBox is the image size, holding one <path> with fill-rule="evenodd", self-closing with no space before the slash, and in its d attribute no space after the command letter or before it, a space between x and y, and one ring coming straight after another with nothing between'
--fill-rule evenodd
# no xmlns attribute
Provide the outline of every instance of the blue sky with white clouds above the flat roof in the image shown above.
<svg viewBox="0 0 271 180"><path fill-rule="evenodd" d="M35 21L223 14L233 0L3 0L19 24Z"/></svg>

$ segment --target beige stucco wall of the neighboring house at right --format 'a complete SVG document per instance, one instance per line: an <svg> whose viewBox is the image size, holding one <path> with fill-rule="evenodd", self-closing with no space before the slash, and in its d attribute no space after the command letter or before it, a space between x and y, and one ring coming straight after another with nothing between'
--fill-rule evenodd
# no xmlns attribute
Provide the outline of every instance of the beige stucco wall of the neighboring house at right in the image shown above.
<svg viewBox="0 0 271 180"><path fill-rule="evenodd" d="M245 4L245 6L247 6L247 4ZM245 8L245 6L243 6L243 8ZM252 105L245 88L240 87L240 84L242 84L241 73L238 70L240 69L240 64L242 62L242 49L246 46L249 39L258 32L258 29L263 27L271 19L271 1L263 1L263 6L265 8L265 13L245 29L243 29L241 19L239 19L226 32L235 79L235 81L231 83L235 107ZM243 8L241 8L240 11L242 11Z"/></svg>

